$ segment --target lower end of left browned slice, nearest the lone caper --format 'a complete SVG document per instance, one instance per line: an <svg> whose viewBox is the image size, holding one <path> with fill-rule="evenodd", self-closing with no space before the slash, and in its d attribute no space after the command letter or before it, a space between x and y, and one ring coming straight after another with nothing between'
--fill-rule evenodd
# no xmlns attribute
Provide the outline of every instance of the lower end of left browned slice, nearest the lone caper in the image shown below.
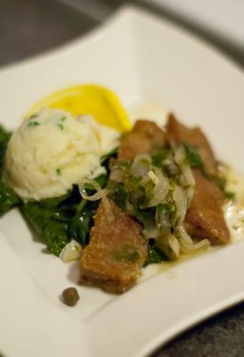
<svg viewBox="0 0 244 357"><path fill-rule="evenodd" d="M108 220L101 203L94 217L91 243L81 258L80 282L119 294L134 285L147 256L147 242L142 226L112 200L109 202L113 220ZM134 252L138 253L135 261L131 259Z"/></svg>

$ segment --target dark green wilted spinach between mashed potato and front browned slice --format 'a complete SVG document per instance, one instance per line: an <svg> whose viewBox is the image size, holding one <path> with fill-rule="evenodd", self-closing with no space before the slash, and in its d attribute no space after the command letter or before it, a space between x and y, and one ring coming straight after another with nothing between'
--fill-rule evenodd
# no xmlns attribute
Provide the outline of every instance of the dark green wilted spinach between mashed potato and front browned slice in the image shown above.
<svg viewBox="0 0 244 357"><path fill-rule="evenodd" d="M107 175L95 180L104 187ZM89 195L94 193L93 187L87 187L86 191ZM59 256L71 239L82 246L89 243L89 232L98 203L84 200L77 185L74 185L67 195L24 203L21 211L44 238L47 250Z"/></svg>

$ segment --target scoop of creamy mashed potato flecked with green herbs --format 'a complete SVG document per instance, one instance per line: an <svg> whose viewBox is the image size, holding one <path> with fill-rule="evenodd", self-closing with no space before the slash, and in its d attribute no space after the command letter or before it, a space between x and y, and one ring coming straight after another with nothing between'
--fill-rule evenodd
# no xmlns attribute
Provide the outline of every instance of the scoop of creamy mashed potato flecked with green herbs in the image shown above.
<svg viewBox="0 0 244 357"><path fill-rule="evenodd" d="M4 180L24 201L63 195L73 184L102 173L101 157L118 146L118 139L117 130L92 116L42 108L14 131Z"/></svg>

